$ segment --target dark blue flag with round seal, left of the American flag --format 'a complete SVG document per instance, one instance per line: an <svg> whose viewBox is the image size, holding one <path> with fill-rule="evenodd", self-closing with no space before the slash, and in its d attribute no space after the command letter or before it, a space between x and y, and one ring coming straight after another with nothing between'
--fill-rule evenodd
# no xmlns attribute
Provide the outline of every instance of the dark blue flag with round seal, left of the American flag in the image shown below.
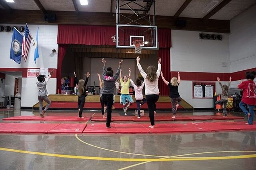
<svg viewBox="0 0 256 170"><path fill-rule="evenodd" d="M23 35L14 27L12 34L12 44L10 50L10 59L20 64L22 51Z"/></svg>

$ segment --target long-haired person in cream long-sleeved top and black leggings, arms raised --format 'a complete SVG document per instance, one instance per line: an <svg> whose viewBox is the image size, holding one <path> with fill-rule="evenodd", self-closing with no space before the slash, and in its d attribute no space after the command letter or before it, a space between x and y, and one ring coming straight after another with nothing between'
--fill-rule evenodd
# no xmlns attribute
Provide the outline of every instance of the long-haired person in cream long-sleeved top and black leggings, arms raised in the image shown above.
<svg viewBox="0 0 256 170"><path fill-rule="evenodd" d="M157 70L154 65L150 65L145 73L140 65L140 56L137 57L137 66L145 81L145 95L148 103L149 119L151 123L149 127L155 128L154 111L156 110L156 102L159 99L158 77L161 72L161 58L158 59Z"/></svg>

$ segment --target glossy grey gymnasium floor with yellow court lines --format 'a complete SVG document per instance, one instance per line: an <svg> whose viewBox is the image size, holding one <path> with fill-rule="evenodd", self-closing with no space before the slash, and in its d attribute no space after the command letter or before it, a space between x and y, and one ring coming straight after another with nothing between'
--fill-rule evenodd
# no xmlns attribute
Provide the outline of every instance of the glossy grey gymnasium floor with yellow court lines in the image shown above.
<svg viewBox="0 0 256 170"><path fill-rule="evenodd" d="M122 115L122 111L115 112ZM101 115L98 111L84 111L83 116L94 113ZM76 114L76 111L48 111L46 116ZM162 113L158 112L158 114ZM180 111L177 116L179 114L216 115L214 111L194 111L194 113ZM20 115L39 115L39 113L32 110L0 109L0 122L3 118ZM239 112L230 112L228 115L243 117ZM134 123L136 122L130 122L131 126ZM188 121L172 123L188 123ZM93 135L0 134L0 167L3 170L254 170L255 136L256 131Z"/></svg>

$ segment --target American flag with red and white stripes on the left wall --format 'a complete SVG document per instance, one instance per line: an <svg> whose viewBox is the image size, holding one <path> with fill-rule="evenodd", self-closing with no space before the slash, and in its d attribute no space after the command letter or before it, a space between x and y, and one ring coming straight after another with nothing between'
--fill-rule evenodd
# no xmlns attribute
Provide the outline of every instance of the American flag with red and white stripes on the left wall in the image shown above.
<svg viewBox="0 0 256 170"><path fill-rule="evenodd" d="M28 25L26 24L25 30L24 30L24 36L22 41L22 57L24 57L24 60L27 61L28 57L28 51L30 47L30 42L32 40L32 36L30 34L30 31L28 30Z"/></svg>

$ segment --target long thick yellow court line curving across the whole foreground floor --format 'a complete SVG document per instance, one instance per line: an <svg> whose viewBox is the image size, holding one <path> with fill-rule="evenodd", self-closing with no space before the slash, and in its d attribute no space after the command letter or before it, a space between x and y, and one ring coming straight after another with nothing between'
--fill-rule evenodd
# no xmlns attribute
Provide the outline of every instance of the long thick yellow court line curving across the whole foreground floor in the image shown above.
<svg viewBox="0 0 256 170"><path fill-rule="evenodd" d="M250 155L238 155L238 156L218 156L218 157L202 157L202 158L105 158L105 157L95 157L95 156L76 156L76 155L64 155L64 154L50 154L44 152L32 152L26 150L16 150L9 148L0 148L0 150L8 151L8 152L18 152L25 154L36 154L42 156L53 156L60 158L74 158L74 159L87 159L87 160L110 160L110 161L130 161L130 162L146 162L146 161L154 161L154 162L162 162L162 161L187 161L187 160L223 160L223 159L241 159L241 158L256 158L256 154ZM239 151L240 152L240 151ZM246 151L244 151L246 152Z"/></svg>

